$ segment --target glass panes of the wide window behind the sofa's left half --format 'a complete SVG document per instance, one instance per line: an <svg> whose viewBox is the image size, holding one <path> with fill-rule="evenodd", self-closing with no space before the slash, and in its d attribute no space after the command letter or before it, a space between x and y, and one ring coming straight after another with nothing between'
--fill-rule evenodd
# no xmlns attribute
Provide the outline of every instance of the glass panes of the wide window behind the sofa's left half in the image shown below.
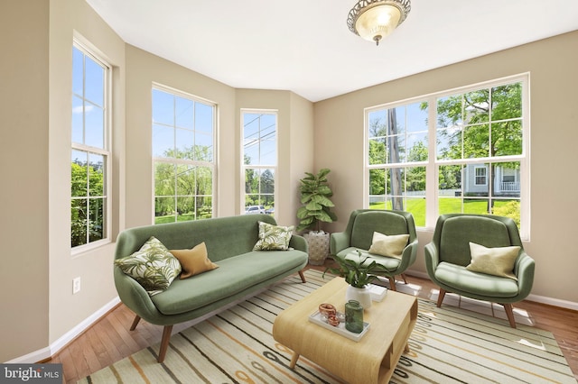
<svg viewBox="0 0 578 384"><path fill-rule="evenodd" d="M212 217L216 109L153 88L154 224Z"/></svg>

